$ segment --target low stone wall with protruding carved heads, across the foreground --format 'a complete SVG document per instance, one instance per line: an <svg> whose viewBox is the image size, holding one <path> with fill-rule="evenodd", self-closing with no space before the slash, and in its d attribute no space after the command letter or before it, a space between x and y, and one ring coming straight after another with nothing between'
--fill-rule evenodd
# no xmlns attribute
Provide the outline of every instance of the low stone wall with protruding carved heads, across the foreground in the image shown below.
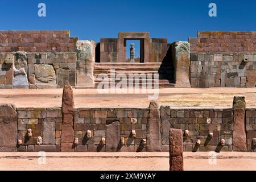
<svg viewBox="0 0 256 182"><path fill-rule="evenodd" d="M3 107L9 108L8 105L1 106ZM0 131L1 151L15 151L14 144L7 149L4 146L9 140L7 136L15 135L18 135L16 145L18 151L61 151L63 131L61 107L15 110L17 117L10 116L10 119L16 119L18 129L15 127L10 129L10 119L7 119L6 115L0 115L0 121L4 121L1 122ZM167 152L171 128L182 130L184 151L234 151L233 108L172 109L170 106L161 106L160 123L155 122L158 119L156 110L152 110L149 114L150 108L75 108L74 119L71 122L73 130L68 131L73 136L72 151L154 151L156 150L154 147L148 146L153 142L162 145L162 149L160 147L158 151ZM256 109L247 108L245 118L247 151L256 152ZM241 124L243 125L243 122ZM160 128L160 138L157 127ZM31 129L31 137L28 137L28 129ZM67 131L65 132L65 136L68 136ZM241 136L240 133L237 134Z"/></svg>

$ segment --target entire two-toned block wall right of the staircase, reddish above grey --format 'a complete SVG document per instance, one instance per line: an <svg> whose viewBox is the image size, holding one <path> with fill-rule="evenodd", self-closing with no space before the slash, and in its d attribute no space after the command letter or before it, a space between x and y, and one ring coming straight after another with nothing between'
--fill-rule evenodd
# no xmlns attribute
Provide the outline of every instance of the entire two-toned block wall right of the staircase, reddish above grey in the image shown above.
<svg viewBox="0 0 256 182"><path fill-rule="evenodd" d="M191 87L255 87L256 32L199 31L189 44Z"/></svg>

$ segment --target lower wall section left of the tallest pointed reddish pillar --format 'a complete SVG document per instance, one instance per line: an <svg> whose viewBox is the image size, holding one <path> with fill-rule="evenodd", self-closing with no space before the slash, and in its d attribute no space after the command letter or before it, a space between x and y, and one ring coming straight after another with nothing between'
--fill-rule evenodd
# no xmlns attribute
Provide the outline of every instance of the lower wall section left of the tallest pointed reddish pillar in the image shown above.
<svg viewBox="0 0 256 182"><path fill-rule="evenodd" d="M20 152L60 152L60 135L62 129L61 108L18 108L18 145ZM32 129L32 136L27 130ZM42 144L38 145L38 137Z"/></svg>

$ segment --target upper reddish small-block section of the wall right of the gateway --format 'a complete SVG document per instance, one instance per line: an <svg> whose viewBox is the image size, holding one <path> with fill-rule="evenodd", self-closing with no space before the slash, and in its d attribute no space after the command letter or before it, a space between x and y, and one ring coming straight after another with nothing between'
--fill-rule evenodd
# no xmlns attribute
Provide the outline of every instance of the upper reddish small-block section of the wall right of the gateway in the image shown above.
<svg viewBox="0 0 256 182"><path fill-rule="evenodd" d="M189 38L191 53L256 52L256 31L199 31Z"/></svg>

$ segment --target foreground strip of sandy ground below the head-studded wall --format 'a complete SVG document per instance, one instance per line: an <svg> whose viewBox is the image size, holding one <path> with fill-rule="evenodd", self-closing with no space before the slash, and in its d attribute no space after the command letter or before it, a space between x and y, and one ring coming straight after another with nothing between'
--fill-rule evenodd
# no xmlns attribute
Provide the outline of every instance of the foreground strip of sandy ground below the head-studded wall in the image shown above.
<svg viewBox="0 0 256 182"><path fill-rule="evenodd" d="M168 152L59 152L46 153L46 164L40 165L39 161L42 160L35 152L0 153L0 170L168 171L169 168ZM256 171L256 153L221 152L217 154L214 164L208 152L184 152L184 169Z"/></svg>

